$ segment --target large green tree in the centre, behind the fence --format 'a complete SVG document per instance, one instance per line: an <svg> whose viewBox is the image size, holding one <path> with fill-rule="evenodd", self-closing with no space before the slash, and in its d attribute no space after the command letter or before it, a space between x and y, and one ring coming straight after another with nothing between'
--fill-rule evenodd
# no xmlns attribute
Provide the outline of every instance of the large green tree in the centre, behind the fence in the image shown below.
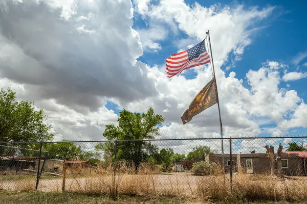
<svg viewBox="0 0 307 204"><path fill-rule="evenodd" d="M118 126L114 124L105 125L103 136L107 140L142 140L154 139L159 136L159 126L164 122L162 115L155 114L150 107L146 113L132 113L125 109L120 112L117 120ZM104 159L113 160L115 142L102 144ZM135 170L141 162L146 161L150 156L157 154L158 148L146 141L118 141L117 159L130 162Z"/></svg>

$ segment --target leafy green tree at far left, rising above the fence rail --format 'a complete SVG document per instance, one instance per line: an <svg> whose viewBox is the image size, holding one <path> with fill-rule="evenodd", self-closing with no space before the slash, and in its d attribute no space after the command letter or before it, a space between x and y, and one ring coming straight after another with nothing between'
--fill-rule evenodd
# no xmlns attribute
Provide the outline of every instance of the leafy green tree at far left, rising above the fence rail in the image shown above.
<svg viewBox="0 0 307 204"><path fill-rule="evenodd" d="M0 90L0 138L2 141L49 141L51 125L45 124L47 115L35 111L33 102L16 101L10 88Z"/></svg>

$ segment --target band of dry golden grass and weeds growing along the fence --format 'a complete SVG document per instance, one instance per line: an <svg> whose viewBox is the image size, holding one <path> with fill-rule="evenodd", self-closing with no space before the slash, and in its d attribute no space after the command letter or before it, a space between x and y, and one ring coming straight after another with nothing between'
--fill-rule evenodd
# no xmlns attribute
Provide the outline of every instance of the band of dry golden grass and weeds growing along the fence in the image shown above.
<svg viewBox="0 0 307 204"><path fill-rule="evenodd" d="M84 171L81 168L68 169L65 190L73 193L91 195L134 195L134 196L172 196L184 197L193 202L208 200L307 200L307 177L297 176L278 179L269 175L235 174L233 175L233 192L230 191L230 175L224 178L221 170L213 175L195 176L190 172L159 173L151 165L143 165L138 173L134 167L118 165L97 167ZM8 190L32 191L35 179L0 182L0 187ZM61 179L40 180L40 191L61 191Z"/></svg>

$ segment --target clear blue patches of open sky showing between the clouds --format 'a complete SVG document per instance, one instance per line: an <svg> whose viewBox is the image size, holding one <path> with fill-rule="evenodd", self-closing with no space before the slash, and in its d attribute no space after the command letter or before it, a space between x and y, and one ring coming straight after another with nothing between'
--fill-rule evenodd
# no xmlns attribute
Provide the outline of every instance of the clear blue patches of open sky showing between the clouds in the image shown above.
<svg viewBox="0 0 307 204"><path fill-rule="evenodd" d="M158 1L152 1L152 5L157 5ZM224 6L233 6L237 4L243 4L246 8L258 7L265 8L268 5L274 6L275 10L272 12L271 17L262 21L260 23L253 24L253 27L261 28L258 32L255 32L252 37L252 43L248 45L239 61L236 61L233 65L231 64L231 59L233 57L233 52L229 53L230 60L224 63L221 68L226 75L229 75L231 71L235 71L236 78L245 79L246 73L249 69L258 70L261 64L270 61L277 61L279 63L284 63L289 65L289 71L305 71L306 66L304 63L307 62L307 58L299 60L295 63L294 60L300 53L307 52L307 41L305 40L305 33L307 28L303 26L304 17L307 17L305 13L305 8L307 2L300 1L299 4L293 4L289 1L185 1L186 4L193 7L195 3L200 4L203 7L210 7L214 4L220 4ZM149 24L146 19L143 19L140 14L136 14L134 17L133 28L136 30L148 29ZM251 27L250 29L253 29ZM171 31L170 31L171 32ZM176 46L176 39L186 39L189 38L187 34L183 31L179 31L177 34L169 35L160 41L162 49L159 52L144 52L140 56L139 60L142 62L154 66L154 65L164 65L165 58L171 54L177 53L178 46ZM211 36L214 38L214 36ZM214 53L213 53L214 55ZM231 68L227 68L231 66ZM186 79L194 79L197 73L190 69L183 73ZM290 82L280 82L280 88L286 88L290 85L290 89L295 89L298 95L303 99L307 99L307 91L305 89L306 80L290 81ZM244 81L243 85L246 88L250 88L249 84ZM114 103L108 103L106 105L108 109L119 107ZM119 110L115 111L117 114ZM289 115L288 115L289 116ZM288 118L287 115L284 118ZM276 127L274 123L268 123L259 126L260 129L266 127ZM266 136L268 132L259 134L259 136ZM289 129L289 135L299 135L305 134L305 128L295 127L294 129Z"/></svg>

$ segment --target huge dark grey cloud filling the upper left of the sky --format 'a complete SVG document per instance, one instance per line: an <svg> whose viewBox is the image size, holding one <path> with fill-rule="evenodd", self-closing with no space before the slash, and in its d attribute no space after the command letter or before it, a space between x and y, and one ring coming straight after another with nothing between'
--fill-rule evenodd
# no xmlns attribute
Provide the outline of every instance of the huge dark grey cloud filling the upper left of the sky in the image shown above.
<svg viewBox="0 0 307 204"><path fill-rule="evenodd" d="M72 2L6 3L9 10L0 13L2 77L24 83L32 100L54 98L91 110L102 105L100 97L155 95L147 66L136 61L143 50L131 28L131 2ZM89 11L91 20L70 17Z"/></svg>

